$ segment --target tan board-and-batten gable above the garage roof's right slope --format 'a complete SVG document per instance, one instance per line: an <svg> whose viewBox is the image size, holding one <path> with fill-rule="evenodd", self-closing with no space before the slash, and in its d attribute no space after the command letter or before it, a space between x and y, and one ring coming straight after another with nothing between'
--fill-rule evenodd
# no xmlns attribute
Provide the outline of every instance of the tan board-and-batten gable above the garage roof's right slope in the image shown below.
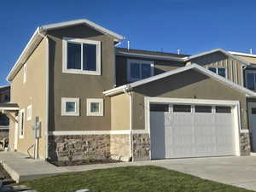
<svg viewBox="0 0 256 192"><path fill-rule="evenodd" d="M199 64L203 67L224 67L227 69L228 79L243 86L243 73L241 61L237 61L221 52L202 55L191 60L191 63Z"/></svg>

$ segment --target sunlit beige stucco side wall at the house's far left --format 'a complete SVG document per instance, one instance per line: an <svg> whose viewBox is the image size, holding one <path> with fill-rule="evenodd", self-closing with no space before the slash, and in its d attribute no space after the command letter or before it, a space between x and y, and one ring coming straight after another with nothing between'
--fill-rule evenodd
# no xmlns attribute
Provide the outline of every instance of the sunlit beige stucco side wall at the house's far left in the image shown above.
<svg viewBox="0 0 256 192"><path fill-rule="evenodd" d="M24 67L24 66L23 66ZM36 116L42 123L42 137L39 139L39 157L45 157L45 67L46 40L42 40L37 49L26 61L26 83L23 83L24 68L21 68L11 83L11 102L25 109L24 138L18 139L17 150L26 154L35 143L32 124ZM32 105L32 120L27 120L27 107ZM15 123L10 121L10 148L15 146ZM33 150L32 150L33 151ZM32 153L31 151L31 153ZM33 154L33 153L32 153Z"/></svg>

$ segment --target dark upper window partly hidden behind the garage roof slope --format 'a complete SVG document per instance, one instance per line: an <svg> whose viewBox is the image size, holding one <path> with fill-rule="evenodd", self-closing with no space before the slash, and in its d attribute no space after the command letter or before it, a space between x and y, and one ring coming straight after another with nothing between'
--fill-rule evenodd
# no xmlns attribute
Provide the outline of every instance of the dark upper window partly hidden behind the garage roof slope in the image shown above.
<svg viewBox="0 0 256 192"><path fill-rule="evenodd" d="M146 79L154 75L154 61L128 60L127 80L129 82Z"/></svg>

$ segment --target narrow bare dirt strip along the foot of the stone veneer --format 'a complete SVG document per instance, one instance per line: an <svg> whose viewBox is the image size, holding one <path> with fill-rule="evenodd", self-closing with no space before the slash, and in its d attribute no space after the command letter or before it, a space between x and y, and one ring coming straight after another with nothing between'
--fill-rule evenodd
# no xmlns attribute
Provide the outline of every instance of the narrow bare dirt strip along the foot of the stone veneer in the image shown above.
<svg viewBox="0 0 256 192"><path fill-rule="evenodd" d="M92 164L106 164L106 163L120 163L121 160L72 160L72 161L51 161L49 163L55 166L81 166L81 165L92 165Z"/></svg>

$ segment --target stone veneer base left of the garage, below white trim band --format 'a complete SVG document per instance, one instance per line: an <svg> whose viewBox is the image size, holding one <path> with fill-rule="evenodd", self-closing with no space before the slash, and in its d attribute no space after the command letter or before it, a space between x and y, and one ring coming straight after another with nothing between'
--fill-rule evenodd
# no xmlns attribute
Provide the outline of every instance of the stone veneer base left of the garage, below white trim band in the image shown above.
<svg viewBox="0 0 256 192"><path fill-rule="evenodd" d="M49 159L130 160L130 135L49 136Z"/></svg>

